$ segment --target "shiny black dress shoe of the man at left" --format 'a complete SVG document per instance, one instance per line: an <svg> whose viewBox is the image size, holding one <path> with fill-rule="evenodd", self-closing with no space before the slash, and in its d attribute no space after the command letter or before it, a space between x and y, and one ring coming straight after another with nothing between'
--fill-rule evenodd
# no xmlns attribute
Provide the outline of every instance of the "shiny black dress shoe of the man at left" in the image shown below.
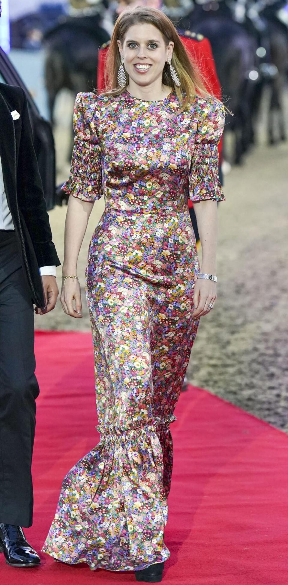
<svg viewBox="0 0 288 585"><path fill-rule="evenodd" d="M30 546L20 526L1 524L0 552L4 552L7 565L12 567L36 567L40 565L40 556Z"/></svg>

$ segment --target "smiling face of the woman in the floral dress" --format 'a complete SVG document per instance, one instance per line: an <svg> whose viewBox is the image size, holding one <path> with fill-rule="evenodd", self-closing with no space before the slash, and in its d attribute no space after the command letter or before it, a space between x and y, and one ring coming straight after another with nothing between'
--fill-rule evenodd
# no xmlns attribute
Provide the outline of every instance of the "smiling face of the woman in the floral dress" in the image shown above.
<svg viewBox="0 0 288 585"><path fill-rule="evenodd" d="M130 26L123 44L117 43L130 80L142 87L159 78L162 81L162 71L168 57L172 56L174 43L171 41L166 46L155 26L145 23Z"/></svg>

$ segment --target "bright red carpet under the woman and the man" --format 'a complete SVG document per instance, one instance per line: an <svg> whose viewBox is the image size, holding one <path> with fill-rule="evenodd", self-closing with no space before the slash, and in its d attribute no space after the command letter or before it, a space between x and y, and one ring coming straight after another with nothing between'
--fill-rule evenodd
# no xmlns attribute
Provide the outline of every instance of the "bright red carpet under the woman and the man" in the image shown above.
<svg viewBox="0 0 288 585"><path fill-rule="evenodd" d="M26 535L40 551L65 473L98 436L91 335L38 333L36 357L35 507ZM163 583L287 585L288 437L192 386L176 416ZM41 567L20 570L0 555L1 585L136 582L133 573L93 573L41 556Z"/></svg>

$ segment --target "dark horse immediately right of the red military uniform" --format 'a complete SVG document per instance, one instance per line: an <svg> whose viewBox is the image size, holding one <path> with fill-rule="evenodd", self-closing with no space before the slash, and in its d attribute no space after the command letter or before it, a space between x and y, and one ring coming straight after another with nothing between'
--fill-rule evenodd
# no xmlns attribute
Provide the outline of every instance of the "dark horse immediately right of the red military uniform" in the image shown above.
<svg viewBox="0 0 288 585"><path fill-rule="evenodd" d="M252 142L251 94L259 77L257 43L240 23L233 20L231 9L225 2L194 5L187 18L192 30L210 40L223 99L233 113L226 119L226 125L235 136L232 161L240 164ZM225 153L225 139L223 150L224 157L231 160L230 153Z"/></svg>

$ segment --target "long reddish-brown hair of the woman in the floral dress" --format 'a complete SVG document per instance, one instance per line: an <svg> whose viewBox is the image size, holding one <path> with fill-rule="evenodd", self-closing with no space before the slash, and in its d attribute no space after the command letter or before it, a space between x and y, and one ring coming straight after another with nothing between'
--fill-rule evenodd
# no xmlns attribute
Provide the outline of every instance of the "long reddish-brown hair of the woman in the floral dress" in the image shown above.
<svg viewBox="0 0 288 585"><path fill-rule="evenodd" d="M174 24L160 10L157 10L156 8L147 8L145 6L138 6L132 10L127 9L122 12L116 20L109 50L107 52L105 67L106 88L102 95L120 95L127 87L119 87L117 82L117 73L121 65L117 40L120 40L123 44L127 30L130 26L137 24L149 24L155 26L161 32L166 45L171 41L174 42L172 65L177 71L179 80L181 81L181 86L176 87L174 84L168 63L165 63L163 69L162 83L174 89L182 104L181 109L184 109L190 104L195 98L195 95L199 95L200 97L213 97L213 94L207 91L199 68L196 63L193 63L192 59L190 59ZM126 78L128 85L129 75L127 72Z"/></svg>

